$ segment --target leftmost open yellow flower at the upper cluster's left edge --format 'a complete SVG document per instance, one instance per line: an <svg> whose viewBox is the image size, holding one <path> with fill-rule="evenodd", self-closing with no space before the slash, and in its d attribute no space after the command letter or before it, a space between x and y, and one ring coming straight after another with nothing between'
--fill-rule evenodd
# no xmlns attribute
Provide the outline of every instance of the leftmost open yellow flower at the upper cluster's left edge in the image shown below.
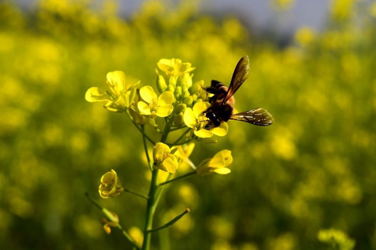
<svg viewBox="0 0 376 250"><path fill-rule="evenodd" d="M135 87L140 83L125 85L125 74L123 71L112 71L107 73L107 87L110 91L103 91L92 87L86 91L85 99L88 102L106 102L105 109L113 112L123 112L131 104L135 97Z"/></svg>

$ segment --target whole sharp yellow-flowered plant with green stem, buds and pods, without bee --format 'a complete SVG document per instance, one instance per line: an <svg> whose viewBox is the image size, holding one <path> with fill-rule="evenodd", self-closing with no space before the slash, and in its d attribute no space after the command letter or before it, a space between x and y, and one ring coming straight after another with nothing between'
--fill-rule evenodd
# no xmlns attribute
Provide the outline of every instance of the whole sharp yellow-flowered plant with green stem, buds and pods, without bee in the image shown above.
<svg viewBox="0 0 376 250"><path fill-rule="evenodd" d="M180 59L174 58L161 59L157 66L159 70L156 70L158 75L156 90L159 94L151 86L139 88L140 81L129 84L122 71L107 74L106 85L109 91L92 87L85 94L89 102L103 102L106 110L125 113L142 135L145 158L151 171L148 194L144 195L123 187L114 169L102 176L98 191L99 195L105 199L116 198L122 192L128 192L146 200L143 240L140 238L136 243L120 226L118 216L114 212L110 212L86 194L107 218L103 221L105 232L110 233L110 227L117 227L136 250L150 250L153 232L172 226L190 211L187 208L163 226L153 228L155 211L167 187L166 184L188 178L196 173L199 175L227 174L230 170L226 166L232 162L229 150L220 151L213 158L203 160L198 167L189 159L194 148L194 143L191 141L216 142L209 138L225 136L228 125L222 122L219 126L211 126L210 120L206 117L206 111L211 107L211 103L208 102L209 93L205 91L202 80L195 83L192 81L193 74L190 72L195 68L191 67L190 63L183 63ZM153 127L154 130L149 131L159 134L160 140L152 139L155 136L146 133L145 126ZM168 143L169 133L178 130L181 130L181 134L174 142ZM153 145L152 157L149 155L147 141ZM194 171L171 179L181 164L188 164ZM160 171L169 174L164 182L158 183ZM138 238L135 237L135 239Z"/></svg>

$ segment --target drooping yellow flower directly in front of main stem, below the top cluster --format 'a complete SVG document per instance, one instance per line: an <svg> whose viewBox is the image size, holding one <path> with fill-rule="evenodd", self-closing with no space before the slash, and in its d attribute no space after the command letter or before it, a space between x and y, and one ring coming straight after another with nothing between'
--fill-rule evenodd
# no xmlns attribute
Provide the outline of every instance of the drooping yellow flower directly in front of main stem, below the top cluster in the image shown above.
<svg viewBox="0 0 376 250"><path fill-rule="evenodd" d="M153 148L154 167L174 174L178 168L178 160L171 154L171 149L162 142L157 142Z"/></svg>

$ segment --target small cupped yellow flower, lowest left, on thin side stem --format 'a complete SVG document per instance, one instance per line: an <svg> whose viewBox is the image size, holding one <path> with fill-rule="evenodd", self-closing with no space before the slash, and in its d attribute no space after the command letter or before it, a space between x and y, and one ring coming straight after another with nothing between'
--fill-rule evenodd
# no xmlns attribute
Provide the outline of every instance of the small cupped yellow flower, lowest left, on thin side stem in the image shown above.
<svg viewBox="0 0 376 250"><path fill-rule="evenodd" d="M121 182L118 178L115 170L111 169L111 172L107 172L100 178L99 195L102 198L115 197L124 191L121 186Z"/></svg>

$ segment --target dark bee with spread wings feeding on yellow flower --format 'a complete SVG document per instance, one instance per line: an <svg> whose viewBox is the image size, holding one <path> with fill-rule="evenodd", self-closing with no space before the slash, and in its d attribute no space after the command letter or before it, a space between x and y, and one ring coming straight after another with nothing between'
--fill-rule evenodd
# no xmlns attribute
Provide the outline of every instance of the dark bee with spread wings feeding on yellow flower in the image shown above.
<svg viewBox="0 0 376 250"><path fill-rule="evenodd" d="M267 126L274 122L273 116L263 108L233 114L235 92L248 78L250 66L248 56L242 57L237 63L229 88L216 80L211 81L211 86L206 91L214 94L209 102L211 106L204 112L210 120L208 127L218 127L222 121L238 120L259 126Z"/></svg>

